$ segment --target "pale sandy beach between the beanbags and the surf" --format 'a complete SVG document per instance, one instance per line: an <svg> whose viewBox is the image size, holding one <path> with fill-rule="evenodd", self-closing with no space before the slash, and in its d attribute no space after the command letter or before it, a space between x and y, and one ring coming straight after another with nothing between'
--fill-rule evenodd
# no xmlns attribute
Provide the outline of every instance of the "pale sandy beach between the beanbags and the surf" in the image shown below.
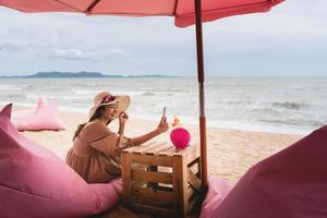
<svg viewBox="0 0 327 218"><path fill-rule="evenodd" d="M15 109L15 108L14 108ZM15 109L22 110L22 107ZM14 112L15 112L14 111ZM66 126L65 131L22 132L23 135L49 148L64 160L66 152L72 146L72 136L77 124L87 120L87 113L60 110L59 117ZM125 135L129 137L147 133L157 126L157 122L130 117ZM109 124L113 131L118 123ZM184 125L191 133L191 144L198 144L198 129L196 125ZM207 129L208 171L209 175L225 178L237 182L245 171L266 157L288 147L302 138L303 135L263 133L218 128ZM170 142L169 132L154 138L157 142Z"/></svg>

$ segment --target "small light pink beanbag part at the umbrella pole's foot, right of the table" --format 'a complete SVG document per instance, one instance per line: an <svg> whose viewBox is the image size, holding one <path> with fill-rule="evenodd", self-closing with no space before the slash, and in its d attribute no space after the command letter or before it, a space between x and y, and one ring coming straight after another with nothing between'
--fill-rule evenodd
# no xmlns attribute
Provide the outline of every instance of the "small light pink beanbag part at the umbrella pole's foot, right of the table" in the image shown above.
<svg viewBox="0 0 327 218"><path fill-rule="evenodd" d="M219 207L231 189L232 185L226 180L210 177L208 192L202 204L199 218L218 218L214 211Z"/></svg>

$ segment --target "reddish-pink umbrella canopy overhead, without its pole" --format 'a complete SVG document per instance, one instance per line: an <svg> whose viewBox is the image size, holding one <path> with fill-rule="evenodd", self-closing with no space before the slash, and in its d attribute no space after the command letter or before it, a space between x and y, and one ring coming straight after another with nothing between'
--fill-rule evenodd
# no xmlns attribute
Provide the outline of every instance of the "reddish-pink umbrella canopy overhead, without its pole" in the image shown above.
<svg viewBox="0 0 327 218"><path fill-rule="evenodd" d="M283 0L202 0L202 21L267 12ZM22 12L80 12L88 15L112 14L120 16L167 15L175 17L179 27L195 23L192 0L0 0L0 5Z"/></svg>

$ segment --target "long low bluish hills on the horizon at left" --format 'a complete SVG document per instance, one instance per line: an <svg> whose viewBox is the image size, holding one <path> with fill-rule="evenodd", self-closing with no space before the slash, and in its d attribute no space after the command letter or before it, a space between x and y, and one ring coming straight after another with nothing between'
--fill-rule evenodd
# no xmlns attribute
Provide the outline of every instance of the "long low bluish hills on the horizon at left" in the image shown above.
<svg viewBox="0 0 327 218"><path fill-rule="evenodd" d="M15 75L15 76L0 76L2 78L83 78L83 77L180 77L173 75L161 74L145 74L145 75L107 75L98 72L38 72L32 75Z"/></svg>

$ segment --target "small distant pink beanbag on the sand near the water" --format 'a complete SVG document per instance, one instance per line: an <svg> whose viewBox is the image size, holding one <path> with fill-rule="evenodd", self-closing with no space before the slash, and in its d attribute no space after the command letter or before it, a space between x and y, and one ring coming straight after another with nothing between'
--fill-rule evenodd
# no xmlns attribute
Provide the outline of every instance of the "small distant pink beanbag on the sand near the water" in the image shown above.
<svg viewBox="0 0 327 218"><path fill-rule="evenodd" d="M17 112L17 117L12 118L12 123L19 131L65 130L58 117L56 101L48 105L39 101L35 110Z"/></svg>

